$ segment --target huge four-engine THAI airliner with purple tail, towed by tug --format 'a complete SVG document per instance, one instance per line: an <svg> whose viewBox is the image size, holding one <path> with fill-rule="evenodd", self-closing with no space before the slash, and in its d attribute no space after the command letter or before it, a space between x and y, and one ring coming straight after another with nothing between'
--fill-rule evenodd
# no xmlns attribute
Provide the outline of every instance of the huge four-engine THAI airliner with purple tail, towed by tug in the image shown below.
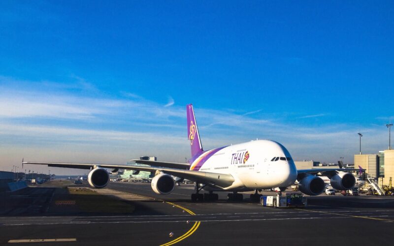
<svg viewBox="0 0 394 246"><path fill-rule="evenodd" d="M255 191L252 200L260 198L259 191L279 187L282 191L298 181L301 192L319 195L325 189L324 181L317 176L327 176L330 184L338 190L347 190L355 185L355 178L349 171L354 169L307 169L297 170L289 151L280 143L270 140L256 140L242 144L221 147L209 151L202 149L193 105L188 104L187 130L192 157L189 163L174 163L149 160L132 160L138 165L113 165L89 163L23 162L23 164L43 164L50 167L90 169L88 182L92 187L103 188L109 182L106 168L130 169L154 172L152 189L157 194L169 194L175 187L171 177L177 181L188 179L195 182L192 201L215 201L216 191L227 191L229 200L242 200L242 191ZM208 193L202 194L204 189Z"/></svg>

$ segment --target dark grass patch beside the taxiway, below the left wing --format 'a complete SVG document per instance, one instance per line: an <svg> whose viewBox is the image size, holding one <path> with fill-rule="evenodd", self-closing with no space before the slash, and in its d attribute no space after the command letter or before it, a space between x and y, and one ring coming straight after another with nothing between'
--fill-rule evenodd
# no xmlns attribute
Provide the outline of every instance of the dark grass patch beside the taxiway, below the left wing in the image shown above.
<svg viewBox="0 0 394 246"><path fill-rule="evenodd" d="M87 188L68 188L69 199L75 200L81 212L88 213L132 213L134 206L108 195L100 195Z"/></svg>

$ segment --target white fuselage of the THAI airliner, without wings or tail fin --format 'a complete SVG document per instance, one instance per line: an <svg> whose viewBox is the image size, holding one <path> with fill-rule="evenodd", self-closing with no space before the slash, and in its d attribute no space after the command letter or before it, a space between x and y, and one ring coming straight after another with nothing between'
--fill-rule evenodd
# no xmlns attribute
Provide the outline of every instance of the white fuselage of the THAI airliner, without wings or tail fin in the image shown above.
<svg viewBox="0 0 394 246"><path fill-rule="evenodd" d="M209 152L201 154L192 163L191 170L202 161L198 171L232 175L234 183L224 190L287 187L296 181L296 165L286 148L277 142L256 140Z"/></svg>

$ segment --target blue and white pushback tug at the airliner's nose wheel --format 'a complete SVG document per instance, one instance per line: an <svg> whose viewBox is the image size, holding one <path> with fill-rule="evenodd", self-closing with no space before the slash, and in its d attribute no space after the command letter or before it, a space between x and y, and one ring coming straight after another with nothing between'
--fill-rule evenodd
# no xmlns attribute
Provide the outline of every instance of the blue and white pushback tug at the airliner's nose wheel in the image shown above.
<svg viewBox="0 0 394 246"><path fill-rule="evenodd" d="M274 207L274 208L291 208L291 207L306 207L307 200L306 197L302 193L293 192L287 193L286 195L276 196L261 196L260 204L266 207Z"/></svg>

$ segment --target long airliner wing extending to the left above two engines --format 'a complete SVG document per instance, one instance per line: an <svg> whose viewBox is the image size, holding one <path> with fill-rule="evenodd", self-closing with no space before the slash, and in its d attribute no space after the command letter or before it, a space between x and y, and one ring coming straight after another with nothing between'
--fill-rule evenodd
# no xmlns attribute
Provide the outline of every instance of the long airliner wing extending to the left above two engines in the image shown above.
<svg viewBox="0 0 394 246"><path fill-rule="evenodd" d="M127 170L138 170L138 171L147 171L147 172L160 171L179 178L184 178L187 180L199 182L202 184L208 184L211 186L217 186L221 188L228 187L234 182L234 178L230 174L200 172L200 171L191 171L191 170L166 168L166 167L152 167L152 166L148 167L148 166L137 166L137 165L114 165L114 164L94 164L94 163L60 163L60 162L23 162L23 164L48 165L49 167L65 167L65 168L77 168L77 169L93 169L96 167L102 167L102 168L110 168L114 170L127 169Z"/></svg>

